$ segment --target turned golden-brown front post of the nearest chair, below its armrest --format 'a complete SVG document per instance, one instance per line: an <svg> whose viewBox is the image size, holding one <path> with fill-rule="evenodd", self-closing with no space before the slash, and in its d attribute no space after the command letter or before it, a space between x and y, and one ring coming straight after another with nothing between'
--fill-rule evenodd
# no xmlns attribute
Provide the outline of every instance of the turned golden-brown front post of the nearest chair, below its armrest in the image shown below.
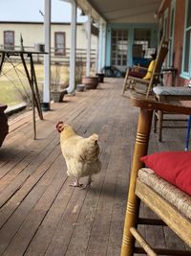
<svg viewBox="0 0 191 256"><path fill-rule="evenodd" d="M152 111L140 109L138 116L138 132L130 178L127 209L124 223L121 256L132 256L134 253L135 239L130 228L138 223L139 199L135 194L138 170L143 166L139 158L147 153L149 134L152 123Z"/></svg>

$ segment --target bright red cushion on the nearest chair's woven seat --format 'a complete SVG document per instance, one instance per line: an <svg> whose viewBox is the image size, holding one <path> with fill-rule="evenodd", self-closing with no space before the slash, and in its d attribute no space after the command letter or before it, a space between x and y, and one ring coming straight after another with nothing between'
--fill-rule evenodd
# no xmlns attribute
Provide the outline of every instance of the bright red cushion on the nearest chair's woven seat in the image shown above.
<svg viewBox="0 0 191 256"><path fill-rule="evenodd" d="M163 151L142 156L140 160L157 175L191 195L191 152Z"/></svg>

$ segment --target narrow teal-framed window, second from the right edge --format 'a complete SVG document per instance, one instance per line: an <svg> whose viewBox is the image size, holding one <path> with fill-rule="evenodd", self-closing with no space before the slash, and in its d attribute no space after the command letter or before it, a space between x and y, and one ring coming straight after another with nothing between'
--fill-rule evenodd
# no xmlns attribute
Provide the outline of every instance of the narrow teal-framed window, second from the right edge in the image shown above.
<svg viewBox="0 0 191 256"><path fill-rule="evenodd" d="M169 34L169 52L168 52L168 66L173 65L173 43L174 43L174 27L175 27L175 0L171 2L170 11L170 34Z"/></svg>

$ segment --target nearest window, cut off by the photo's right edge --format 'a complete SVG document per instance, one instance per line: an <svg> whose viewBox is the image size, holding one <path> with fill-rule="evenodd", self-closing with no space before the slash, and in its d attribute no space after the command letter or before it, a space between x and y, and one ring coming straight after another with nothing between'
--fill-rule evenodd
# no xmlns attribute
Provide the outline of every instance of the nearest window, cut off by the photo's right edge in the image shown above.
<svg viewBox="0 0 191 256"><path fill-rule="evenodd" d="M191 77L191 0L186 1L185 29L183 42L182 74L190 79Z"/></svg>

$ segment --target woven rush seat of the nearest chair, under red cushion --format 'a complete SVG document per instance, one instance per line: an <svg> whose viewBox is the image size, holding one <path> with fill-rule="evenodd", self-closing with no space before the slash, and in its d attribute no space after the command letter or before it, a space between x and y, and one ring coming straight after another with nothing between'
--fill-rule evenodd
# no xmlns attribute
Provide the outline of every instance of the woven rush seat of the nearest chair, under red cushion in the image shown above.
<svg viewBox="0 0 191 256"><path fill-rule="evenodd" d="M191 198L177 187L156 175L149 168L138 171L138 179L174 205L184 217L191 220Z"/></svg>

